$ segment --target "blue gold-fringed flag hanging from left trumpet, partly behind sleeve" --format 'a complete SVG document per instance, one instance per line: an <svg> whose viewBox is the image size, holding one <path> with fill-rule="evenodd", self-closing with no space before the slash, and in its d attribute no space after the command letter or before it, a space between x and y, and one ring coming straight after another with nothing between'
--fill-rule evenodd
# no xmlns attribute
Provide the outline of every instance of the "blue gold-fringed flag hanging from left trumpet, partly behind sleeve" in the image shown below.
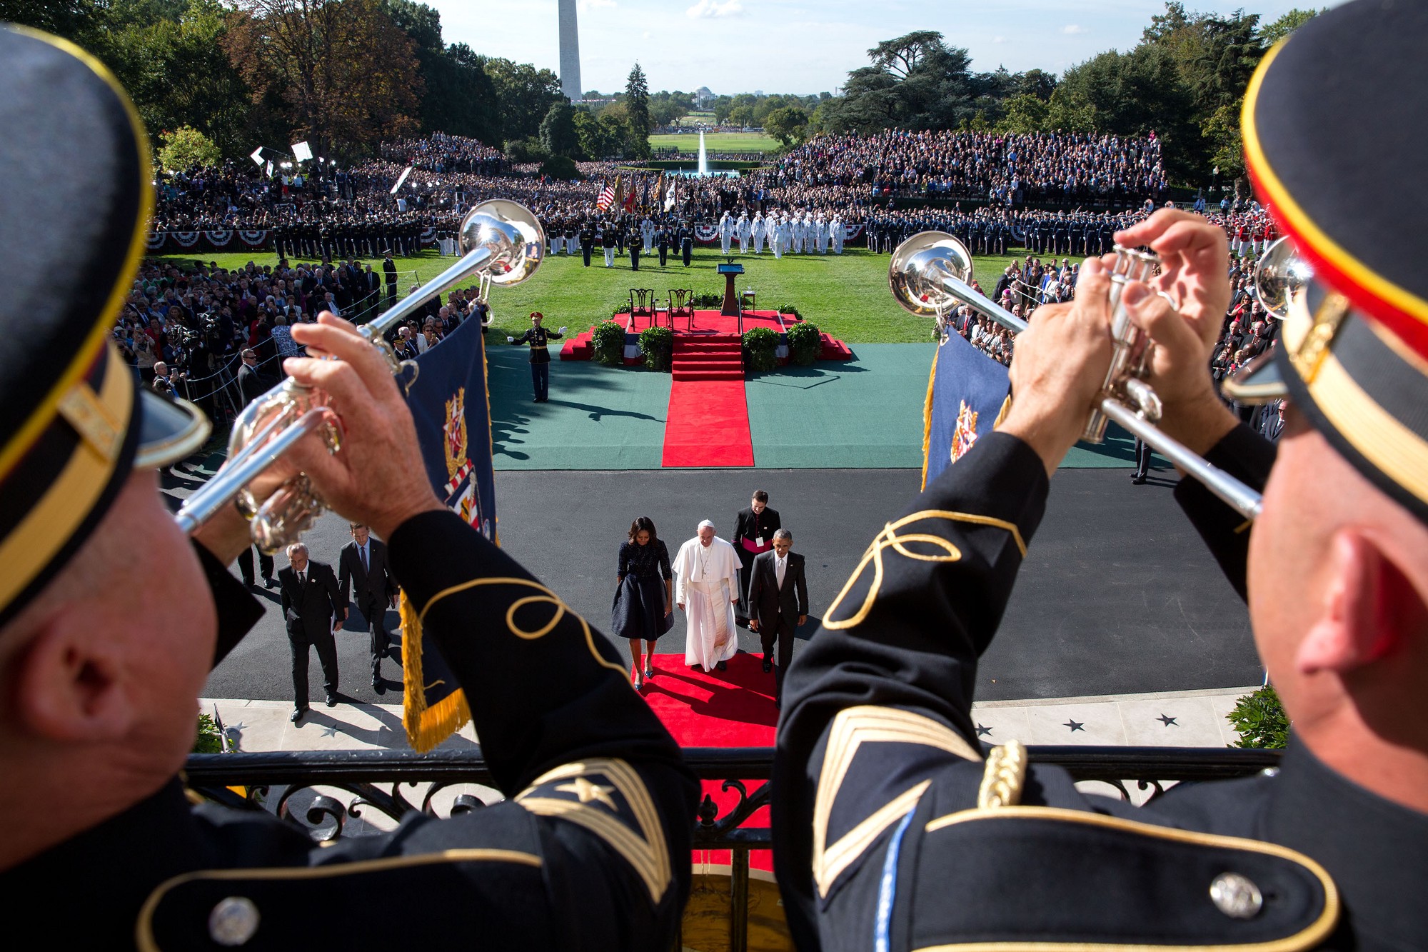
<svg viewBox="0 0 1428 952"><path fill-rule="evenodd" d="M496 535L496 475L491 469L491 407L486 389L481 322L467 320L417 357L407 406L427 479L453 512L481 535ZM430 750L471 719L466 695L430 643L416 609L401 598L403 723L417 750Z"/></svg>

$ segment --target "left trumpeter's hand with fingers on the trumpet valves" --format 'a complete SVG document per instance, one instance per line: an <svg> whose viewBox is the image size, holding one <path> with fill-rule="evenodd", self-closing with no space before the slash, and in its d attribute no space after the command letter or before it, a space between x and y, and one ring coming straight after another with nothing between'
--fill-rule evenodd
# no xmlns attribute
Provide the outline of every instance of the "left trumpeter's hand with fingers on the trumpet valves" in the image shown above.
<svg viewBox="0 0 1428 952"><path fill-rule="evenodd" d="M303 439L293 447L293 466L307 473L333 510L383 539L411 516L441 509L426 477L411 412L381 352L327 312L316 324L294 326L293 340L314 356L288 357L283 369L297 383L327 392L346 427L340 453L328 453L321 439Z"/></svg>

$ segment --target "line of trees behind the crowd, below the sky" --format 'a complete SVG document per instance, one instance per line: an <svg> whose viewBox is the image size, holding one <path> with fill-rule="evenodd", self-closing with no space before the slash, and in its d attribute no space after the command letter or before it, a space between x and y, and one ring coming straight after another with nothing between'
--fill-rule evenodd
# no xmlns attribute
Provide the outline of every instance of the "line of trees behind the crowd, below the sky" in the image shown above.
<svg viewBox="0 0 1428 952"><path fill-rule="evenodd" d="M784 146L883 129L1154 130L1175 180L1228 182L1242 174L1238 110L1255 64L1312 16L1261 24L1171 0L1135 47L1060 77L975 73L965 49L920 30L868 50L838 94L720 96L713 110L717 123L763 127ZM647 157L651 129L694 109L691 93L651 93L638 63L623 91L571 104L551 70L446 43L441 14L416 0L0 0L0 20L99 56L156 144L180 156L237 159L306 139L317 154L351 159L444 132L573 172L577 159Z"/></svg>

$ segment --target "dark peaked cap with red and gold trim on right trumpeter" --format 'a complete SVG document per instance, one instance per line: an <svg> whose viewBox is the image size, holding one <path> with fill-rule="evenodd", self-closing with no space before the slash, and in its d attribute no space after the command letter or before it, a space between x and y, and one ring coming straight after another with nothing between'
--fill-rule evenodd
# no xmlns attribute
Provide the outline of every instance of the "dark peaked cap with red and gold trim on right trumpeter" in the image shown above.
<svg viewBox="0 0 1428 952"><path fill-rule="evenodd" d="M1264 57L1245 164L1312 267L1271 357L1225 382L1288 396L1367 479L1428 522L1428 3L1357 0Z"/></svg>

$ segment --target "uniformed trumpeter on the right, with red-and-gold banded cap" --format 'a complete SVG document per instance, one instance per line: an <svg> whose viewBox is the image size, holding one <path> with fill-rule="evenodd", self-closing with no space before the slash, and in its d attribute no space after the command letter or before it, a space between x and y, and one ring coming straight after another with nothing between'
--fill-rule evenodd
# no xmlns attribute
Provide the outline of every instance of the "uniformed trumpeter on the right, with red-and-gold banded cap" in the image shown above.
<svg viewBox="0 0 1428 952"><path fill-rule="evenodd" d="M977 659L1075 440L1060 415L1080 416L1107 366L1110 282L1087 262L1075 303L1038 310L1018 337L1002 426L878 535L788 675L773 830L800 949L1421 946L1428 469L1398 463L1428 459L1428 323L1404 309L1424 313L1428 277L1399 272L1394 300L1365 280L1402 206L1348 170L1384 172L1428 143L1401 137L1391 109L1322 147L1284 120L1338 114L1381 74L1414 83L1421 110L1425 40L1428 9L1349 3L1295 31L1250 84L1261 197L1307 256L1358 262L1297 296L1275 354L1231 383L1237 399L1291 396L1277 455L1204 372L1230 300L1224 233L1165 209L1117 236L1162 257L1160 289L1175 299L1138 284L1122 297L1157 344L1168 435L1265 489L1252 532L1198 485L1175 495L1251 595L1294 725L1281 766L1134 808L1078 792L1018 743L978 743ZM1327 76L1331 51L1344 70ZM1424 250L1418 239L1408 253Z"/></svg>

